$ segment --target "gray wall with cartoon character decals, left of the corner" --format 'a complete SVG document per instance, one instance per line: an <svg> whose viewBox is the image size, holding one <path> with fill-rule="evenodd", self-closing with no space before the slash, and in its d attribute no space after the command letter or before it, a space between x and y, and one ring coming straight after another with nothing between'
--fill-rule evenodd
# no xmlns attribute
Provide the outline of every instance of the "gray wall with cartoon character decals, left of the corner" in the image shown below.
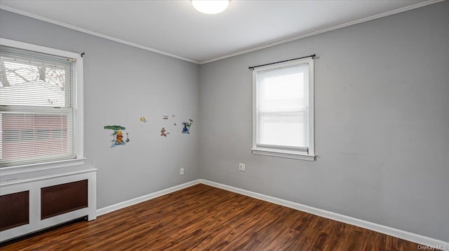
<svg viewBox="0 0 449 251"><path fill-rule="evenodd" d="M98 208L199 178L199 66L5 10L0 36L86 53L84 153L99 169ZM142 115L149 122L140 122ZM182 135L180 123L189 118L192 134ZM130 142L109 148L109 124L126 127ZM163 126L166 138L159 136Z"/></svg>

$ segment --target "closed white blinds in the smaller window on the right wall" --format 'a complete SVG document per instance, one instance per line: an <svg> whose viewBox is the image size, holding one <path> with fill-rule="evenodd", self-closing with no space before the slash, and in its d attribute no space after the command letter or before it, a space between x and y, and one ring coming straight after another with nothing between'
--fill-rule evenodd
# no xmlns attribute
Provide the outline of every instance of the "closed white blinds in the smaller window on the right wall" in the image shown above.
<svg viewBox="0 0 449 251"><path fill-rule="evenodd" d="M257 72L256 145L309 148L309 66L299 64Z"/></svg>

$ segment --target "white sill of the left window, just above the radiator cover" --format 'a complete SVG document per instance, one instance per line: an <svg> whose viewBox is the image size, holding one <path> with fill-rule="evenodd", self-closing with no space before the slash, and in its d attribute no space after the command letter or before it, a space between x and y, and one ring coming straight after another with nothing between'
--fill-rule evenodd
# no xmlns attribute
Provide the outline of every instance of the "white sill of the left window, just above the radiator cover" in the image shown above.
<svg viewBox="0 0 449 251"><path fill-rule="evenodd" d="M4 178L6 175L21 175L26 173L34 173L55 168L67 168L71 166L79 166L84 164L86 158L68 159L58 162L45 162L39 164L28 164L22 166L8 166L0 168L0 178Z"/></svg>

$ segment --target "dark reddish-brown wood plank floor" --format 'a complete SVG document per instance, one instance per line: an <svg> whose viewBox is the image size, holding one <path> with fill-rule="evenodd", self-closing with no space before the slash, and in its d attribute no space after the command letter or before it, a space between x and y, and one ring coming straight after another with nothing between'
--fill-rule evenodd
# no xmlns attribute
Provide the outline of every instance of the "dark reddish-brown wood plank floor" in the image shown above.
<svg viewBox="0 0 449 251"><path fill-rule="evenodd" d="M384 234L194 185L0 250L418 250Z"/></svg>

